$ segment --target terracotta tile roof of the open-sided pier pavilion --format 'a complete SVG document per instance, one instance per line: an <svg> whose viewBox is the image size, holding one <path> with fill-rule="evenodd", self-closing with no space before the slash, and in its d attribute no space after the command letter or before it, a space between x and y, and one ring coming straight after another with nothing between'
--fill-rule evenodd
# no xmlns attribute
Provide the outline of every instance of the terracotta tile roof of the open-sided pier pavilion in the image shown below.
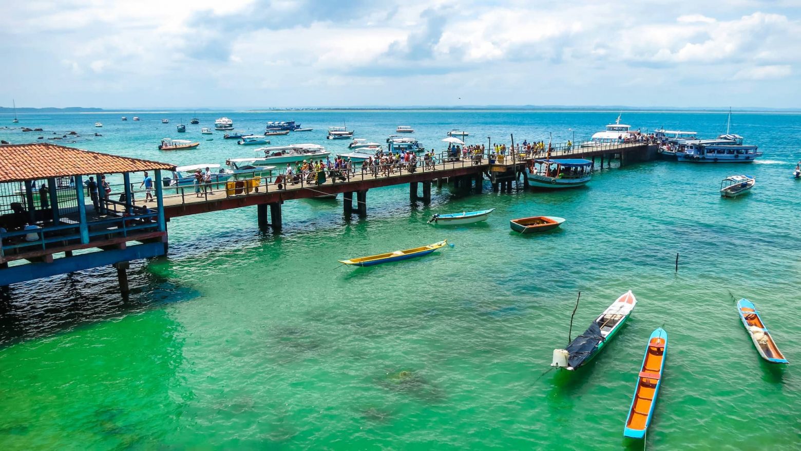
<svg viewBox="0 0 801 451"><path fill-rule="evenodd" d="M0 145L0 183L155 169L174 171L175 166L50 143Z"/></svg>

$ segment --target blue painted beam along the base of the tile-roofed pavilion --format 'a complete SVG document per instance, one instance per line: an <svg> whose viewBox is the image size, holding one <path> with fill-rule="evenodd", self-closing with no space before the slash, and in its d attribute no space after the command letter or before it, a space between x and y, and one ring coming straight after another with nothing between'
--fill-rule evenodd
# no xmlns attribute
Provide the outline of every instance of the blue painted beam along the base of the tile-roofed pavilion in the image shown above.
<svg viewBox="0 0 801 451"><path fill-rule="evenodd" d="M84 269L110 266L115 263L130 260L146 259L163 256L163 243L146 243L128 246L125 249L112 249L110 251L91 252L71 257L54 259L52 263L29 263L0 269L0 286L19 284L28 280L42 277L57 276L68 272L83 271Z"/></svg>

